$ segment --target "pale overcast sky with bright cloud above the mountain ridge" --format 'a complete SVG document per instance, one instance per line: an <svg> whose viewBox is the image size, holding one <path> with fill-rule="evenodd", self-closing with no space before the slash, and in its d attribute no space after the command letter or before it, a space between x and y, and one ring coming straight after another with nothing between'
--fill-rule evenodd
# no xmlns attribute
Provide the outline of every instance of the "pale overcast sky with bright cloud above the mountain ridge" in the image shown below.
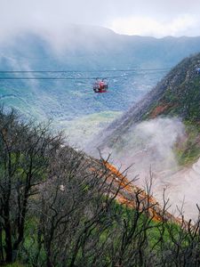
<svg viewBox="0 0 200 267"><path fill-rule="evenodd" d="M200 36L200 0L0 0L0 38L98 25L140 36Z"/></svg>

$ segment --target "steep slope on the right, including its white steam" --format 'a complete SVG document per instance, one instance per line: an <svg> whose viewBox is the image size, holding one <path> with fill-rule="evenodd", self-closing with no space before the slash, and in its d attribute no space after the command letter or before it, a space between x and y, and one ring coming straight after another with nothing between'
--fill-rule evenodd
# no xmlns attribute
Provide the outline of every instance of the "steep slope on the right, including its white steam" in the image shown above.
<svg viewBox="0 0 200 267"><path fill-rule="evenodd" d="M181 61L140 102L99 134L91 146L93 155L97 155L96 147L102 155L111 153L116 165L134 164L128 176L139 174L140 186L150 169L156 199L162 202L167 189L170 211L175 211L176 206L181 209L184 202L186 218L194 220L196 204L200 204L199 64L200 54Z"/></svg>

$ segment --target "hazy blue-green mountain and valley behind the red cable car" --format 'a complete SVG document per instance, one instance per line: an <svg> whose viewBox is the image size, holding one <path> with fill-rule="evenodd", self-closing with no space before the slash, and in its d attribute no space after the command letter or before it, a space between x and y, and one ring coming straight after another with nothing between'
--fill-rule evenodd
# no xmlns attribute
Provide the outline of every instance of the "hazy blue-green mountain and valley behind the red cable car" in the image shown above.
<svg viewBox="0 0 200 267"><path fill-rule="evenodd" d="M0 42L0 71L68 70L68 73L1 72L0 103L28 117L52 118L54 126L64 129L72 142L79 142L81 136L83 143L139 101L164 77L167 71L164 69L198 52L199 47L200 37L124 36L108 28L78 25L54 34L23 32L6 43ZM69 79L2 79L21 75ZM108 93L92 92L96 77L108 77Z"/></svg>

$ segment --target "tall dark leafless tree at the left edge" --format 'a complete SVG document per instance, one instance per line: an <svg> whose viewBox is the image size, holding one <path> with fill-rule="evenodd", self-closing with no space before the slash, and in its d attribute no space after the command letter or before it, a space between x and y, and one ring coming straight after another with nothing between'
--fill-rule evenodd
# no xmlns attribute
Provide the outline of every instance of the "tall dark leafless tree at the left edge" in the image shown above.
<svg viewBox="0 0 200 267"><path fill-rule="evenodd" d="M45 180L49 160L60 146L60 135L54 137L48 129L20 121L13 110L0 110L1 262L15 260L24 240L28 200Z"/></svg>

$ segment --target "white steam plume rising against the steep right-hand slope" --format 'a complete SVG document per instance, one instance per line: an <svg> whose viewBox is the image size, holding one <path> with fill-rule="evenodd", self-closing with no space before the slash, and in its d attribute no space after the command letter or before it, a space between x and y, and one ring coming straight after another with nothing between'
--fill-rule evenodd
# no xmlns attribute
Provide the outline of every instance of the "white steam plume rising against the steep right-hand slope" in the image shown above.
<svg viewBox="0 0 200 267"><path fill-rule="evenodd" d="M184 125L178 118L156 118L132 126L110 150L117 165L124 167L134 164L134 173L147 174L149 168L154 172L174 169L177 166L174 144L184 135Z"/></svg>

